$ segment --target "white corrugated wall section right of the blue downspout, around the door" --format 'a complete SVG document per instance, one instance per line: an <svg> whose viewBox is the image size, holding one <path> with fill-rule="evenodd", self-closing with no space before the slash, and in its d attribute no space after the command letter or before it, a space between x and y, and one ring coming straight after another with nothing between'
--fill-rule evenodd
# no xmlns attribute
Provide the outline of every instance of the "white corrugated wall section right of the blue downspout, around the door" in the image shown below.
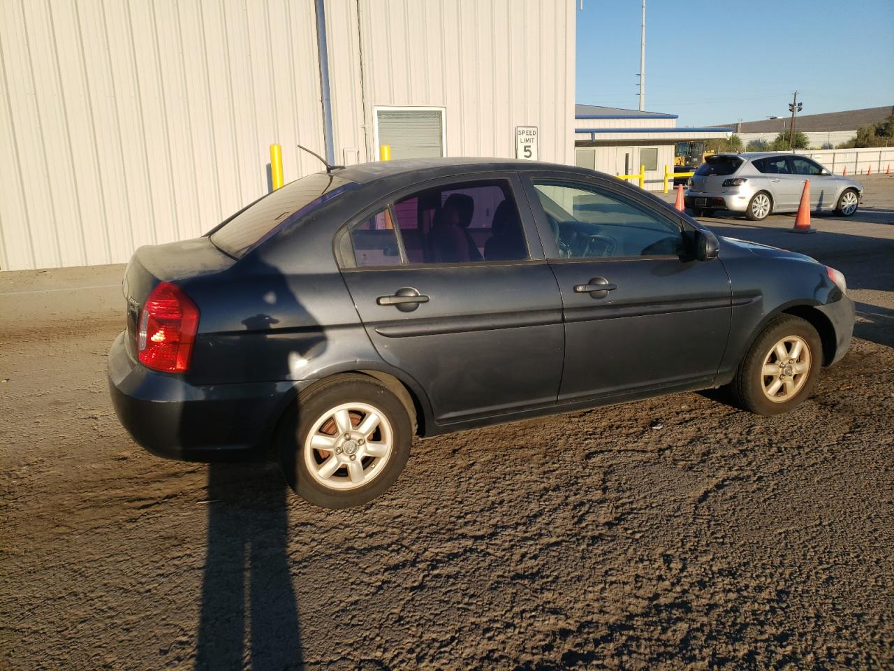
<svg viewBox="0 0 894 671"><path fill-rule="evenodd" d="M433 106L447 156L515 157L515 127L530 125L540 160L574 163L573 0L326 7L336 147L375 160L375 106Z"/></svg>

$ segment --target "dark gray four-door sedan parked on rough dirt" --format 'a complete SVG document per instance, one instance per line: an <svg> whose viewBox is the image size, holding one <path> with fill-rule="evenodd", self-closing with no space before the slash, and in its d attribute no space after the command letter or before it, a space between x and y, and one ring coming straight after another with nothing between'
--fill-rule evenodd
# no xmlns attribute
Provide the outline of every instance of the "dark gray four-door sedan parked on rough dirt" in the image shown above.
<svg viewBox="0 0 894 671"><path fill-rule="evenodd" d="M608 175L498 159L309 175L140 248L124 291L108 375L134 439L272 456L328 507L391 487L414 435L717 386L788 411L854 325L814 259Z"/></svg>

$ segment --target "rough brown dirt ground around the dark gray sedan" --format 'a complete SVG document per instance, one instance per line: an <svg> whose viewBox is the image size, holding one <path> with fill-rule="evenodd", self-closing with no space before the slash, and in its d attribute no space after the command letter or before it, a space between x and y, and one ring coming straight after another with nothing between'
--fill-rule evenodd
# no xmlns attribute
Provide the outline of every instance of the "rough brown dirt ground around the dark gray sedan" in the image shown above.
<svg viewBox="0 0 894 671"><path fill-rule="evenodd" d="M145 453L105 389L122 320L0 302L0 667L890 668L894 179L867 184L816 235L709 221L848 275L859 337L797 412L684 394L439 437L342 512Z"/></svg>

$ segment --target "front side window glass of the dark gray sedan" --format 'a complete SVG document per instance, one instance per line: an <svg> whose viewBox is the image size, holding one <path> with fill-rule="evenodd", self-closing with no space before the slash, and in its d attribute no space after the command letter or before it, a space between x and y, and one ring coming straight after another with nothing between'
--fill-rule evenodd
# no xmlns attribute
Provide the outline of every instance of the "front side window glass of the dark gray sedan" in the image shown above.
<svg viewBox="0 0 894 671"><path fill-rule="evenodd" d="M536 182L534 187L559 259L679 254L679 225L632 199L584 184Z"/></svg>

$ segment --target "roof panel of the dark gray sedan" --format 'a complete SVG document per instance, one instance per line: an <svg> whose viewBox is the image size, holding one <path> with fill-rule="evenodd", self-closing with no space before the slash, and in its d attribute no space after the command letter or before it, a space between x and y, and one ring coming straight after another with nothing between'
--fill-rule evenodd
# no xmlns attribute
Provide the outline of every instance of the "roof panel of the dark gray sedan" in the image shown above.
<svg viewBox="0 0 894 671"><path fill-rule="evenodd" d="M520 161L507 158L442 157L442 158L400 158L393 161L359 163L333 171L344 180L366 184L382 179L412 176L414 182L421 178L447 176L461 172L484 173L495 170L548 171L569 174L593 174L593 171L576 166L541 161Z"/></svg>

